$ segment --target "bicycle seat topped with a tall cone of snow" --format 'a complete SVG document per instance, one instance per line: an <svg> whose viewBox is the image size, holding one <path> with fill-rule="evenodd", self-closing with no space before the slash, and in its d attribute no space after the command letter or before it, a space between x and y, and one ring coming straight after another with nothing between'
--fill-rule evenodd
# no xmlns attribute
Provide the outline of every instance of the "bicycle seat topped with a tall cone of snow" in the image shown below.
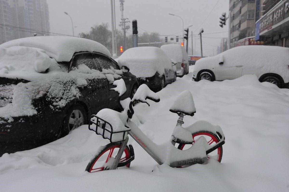
<svg viewBox="0 0 289 192"><path fill-rule="evenodd" d="M193 116L196 113L196 108L191 92L188 90L181 92L173 102L170 111Z"/></svg>

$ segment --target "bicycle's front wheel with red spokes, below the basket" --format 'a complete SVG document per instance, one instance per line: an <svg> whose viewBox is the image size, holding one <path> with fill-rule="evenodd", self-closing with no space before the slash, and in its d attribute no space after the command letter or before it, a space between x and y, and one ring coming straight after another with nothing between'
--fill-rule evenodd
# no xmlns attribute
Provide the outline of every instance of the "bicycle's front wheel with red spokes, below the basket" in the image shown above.
<svg viewBox="0 0 289 192"><path fill-rule="evenodd" d="M97 154L90 160L86 167L86 171L90 173L99 172L106 170L107 163L110 158L115 158L118 150L121 147L121 143L109 143L103 149L101 149ZM121 160L119 163L126 161L131 157L129 147L126 146L125 150L121 156ZM127 163L127 167L129 167L130 163Z"/></svg>

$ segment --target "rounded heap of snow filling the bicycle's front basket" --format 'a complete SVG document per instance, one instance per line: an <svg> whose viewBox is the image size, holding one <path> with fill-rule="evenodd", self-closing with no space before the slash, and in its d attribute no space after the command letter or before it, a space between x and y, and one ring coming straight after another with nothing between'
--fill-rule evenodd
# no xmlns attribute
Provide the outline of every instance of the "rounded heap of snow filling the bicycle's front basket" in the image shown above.
<svg viewBox="0 0 289 192"><path fill-rule="evenodd" d="M120 113L112 109L101 109L97 113L97 117L111 124L112 130L110 130L110 126L108 124L105 126L105 128L114 133L112 134L112 138L110 138L110 133L108 132L105 132L104 137L111 139L112 142L122 141L124 139L123 132L125 131L125 137L126 137L127 131L130 131L130 128L125 127L125 125L127 124L127 118L128 118L127 113ZM96 117L91 118L91 120L94 122L97 121ZM92 124L90 128L93 130L96 130L96 125ZM116 132L121 132L121 133L116 133ZM102 135L103 130L101 128L98 128L97 133Z"/></svg>

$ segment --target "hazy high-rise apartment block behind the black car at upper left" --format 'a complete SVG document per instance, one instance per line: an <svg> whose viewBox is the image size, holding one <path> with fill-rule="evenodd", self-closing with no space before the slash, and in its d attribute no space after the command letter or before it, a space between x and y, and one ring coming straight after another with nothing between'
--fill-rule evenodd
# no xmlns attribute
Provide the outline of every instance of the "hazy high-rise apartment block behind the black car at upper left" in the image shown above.
<svg viewBox="0 0 289 192"><path fill-rule="evenodd" d="M31 37L34 33L38 36L49 35L46 0L0 0L0 13L0 44Z"/></svg>

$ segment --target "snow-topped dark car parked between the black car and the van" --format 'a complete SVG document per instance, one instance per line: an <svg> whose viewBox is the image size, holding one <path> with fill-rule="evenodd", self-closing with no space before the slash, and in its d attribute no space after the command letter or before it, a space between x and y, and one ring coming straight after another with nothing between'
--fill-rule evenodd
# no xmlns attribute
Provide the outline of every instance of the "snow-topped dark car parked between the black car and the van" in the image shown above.
<svg viewBox="0 0 289 192"><path fill-rule="evenodd" d="M155 92L177 79L175 63L158 47L130 48L116 61L130 69L139 85L146 84Z"/></svg>

